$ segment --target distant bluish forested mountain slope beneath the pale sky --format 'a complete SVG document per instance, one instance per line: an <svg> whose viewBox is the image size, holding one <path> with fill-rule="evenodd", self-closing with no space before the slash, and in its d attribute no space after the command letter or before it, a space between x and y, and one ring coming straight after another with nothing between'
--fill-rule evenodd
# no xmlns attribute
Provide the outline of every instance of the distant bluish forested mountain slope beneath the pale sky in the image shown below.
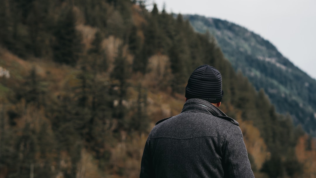
<svg viewBox="0 0 316 178"><path fill-rule="evenodd" d="M183 15L200 33L213 35L235 71L264 89L277 112L289 113L295 125L316 135L316 80L285 58L273 44L229 21ZM294 44L295 45L295 44Z"/></svg>

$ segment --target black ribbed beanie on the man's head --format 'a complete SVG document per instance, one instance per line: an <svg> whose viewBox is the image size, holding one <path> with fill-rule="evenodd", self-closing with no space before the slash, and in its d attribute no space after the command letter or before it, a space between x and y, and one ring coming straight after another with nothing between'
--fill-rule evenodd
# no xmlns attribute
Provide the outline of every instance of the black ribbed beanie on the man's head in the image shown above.
<svg viewBox="0 0 316 178"><path fill-rule="evenodd" d="M185 87L187 99L200 98L211 103L222 101L222 76L214 67L201 65L193 71Z"/></svg>

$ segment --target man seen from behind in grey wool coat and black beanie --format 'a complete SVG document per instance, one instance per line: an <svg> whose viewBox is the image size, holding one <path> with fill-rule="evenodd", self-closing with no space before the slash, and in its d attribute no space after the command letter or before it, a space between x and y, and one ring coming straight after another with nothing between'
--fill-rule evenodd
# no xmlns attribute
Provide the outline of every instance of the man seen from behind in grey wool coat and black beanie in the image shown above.
<svg viewBox="0 0 316 178"><path fill-rule="evenodd" d="M140 178L254 177L238 122L218 108L222 96L218 70L201 65L193 71L181 113L149 133Z"/></svg>

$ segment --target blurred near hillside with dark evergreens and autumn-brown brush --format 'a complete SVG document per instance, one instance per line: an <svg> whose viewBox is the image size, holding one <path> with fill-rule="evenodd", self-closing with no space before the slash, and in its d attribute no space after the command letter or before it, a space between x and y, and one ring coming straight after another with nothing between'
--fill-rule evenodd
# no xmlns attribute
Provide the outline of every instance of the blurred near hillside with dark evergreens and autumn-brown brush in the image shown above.
<svg viewBox="0 0 316 178"><path fill-rule="evenodd" d="M315 140L195 33L143 1L0 1L0 178L139 177L148 133L201 64L223 78L256 177L316 175Z"/></svg>

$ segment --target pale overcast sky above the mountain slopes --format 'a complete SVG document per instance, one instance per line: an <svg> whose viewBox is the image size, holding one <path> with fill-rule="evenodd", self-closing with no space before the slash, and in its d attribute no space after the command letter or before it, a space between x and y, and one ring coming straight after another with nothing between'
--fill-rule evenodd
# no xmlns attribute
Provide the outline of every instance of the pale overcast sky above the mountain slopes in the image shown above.
<svg viewBox="0 0 316 178"><path fill-rule="evenodd" d="M149 0L159 11L227 20L269 40L316 79L316 0ZM148 2L149 2L148 1Z"/></svg>

